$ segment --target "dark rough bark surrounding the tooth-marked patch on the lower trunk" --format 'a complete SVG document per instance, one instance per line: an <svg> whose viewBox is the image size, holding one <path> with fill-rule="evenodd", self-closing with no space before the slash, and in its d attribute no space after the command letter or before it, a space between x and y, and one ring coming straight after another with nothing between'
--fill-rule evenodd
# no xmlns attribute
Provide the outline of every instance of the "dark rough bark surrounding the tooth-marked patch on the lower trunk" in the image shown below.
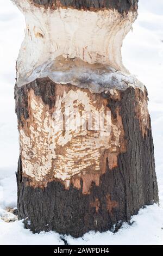
<svg viewBox="0 0 163 256"><path fill-rule="evenodd" d="M30 90L51 111L57 99L56 86L48 78L42 78L24 87L15 87L19 130L26 129L24 127L31 119ZM87 89L79 90L89 92ZM104 171L99 176L98 184L92 180L87 193L83 193L83 176L79 177L78 187L73 182L65 187L61 180L54 178L49 179L43 187L38 183L33 185L32 178L23 172L20 155L17 172L18 218L24 218L25 227L34 233L55 230L79 237L90 230L109 230L114 224L119 228L142 206L159 200L146 89L142 92L128 88L123 92L117 90L116 96L108 92L93 97L106 102L112 120L117 119L117 122L120 120L117 115L119 109L125 149L118 152L116 164L111 163L114 153L110 153L110 157L103 157ZM87 172L95 172L93 165Z"/></svg>

